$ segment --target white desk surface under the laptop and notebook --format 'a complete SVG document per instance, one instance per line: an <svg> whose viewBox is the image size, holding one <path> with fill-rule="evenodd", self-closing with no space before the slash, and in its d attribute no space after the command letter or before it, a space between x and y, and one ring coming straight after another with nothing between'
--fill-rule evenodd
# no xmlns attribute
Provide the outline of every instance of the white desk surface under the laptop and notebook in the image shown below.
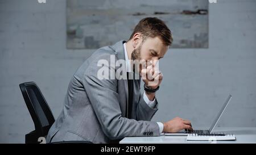
<svg viewBox="0 0 256 155"><path fill-rule="evenodd" d="M120 144L202 144L202 143L254 143L256 144L256 128L216 128L213 132L233 133L234 141L187 141L187 136L148 136L148 137L125 137Z"/></svg>

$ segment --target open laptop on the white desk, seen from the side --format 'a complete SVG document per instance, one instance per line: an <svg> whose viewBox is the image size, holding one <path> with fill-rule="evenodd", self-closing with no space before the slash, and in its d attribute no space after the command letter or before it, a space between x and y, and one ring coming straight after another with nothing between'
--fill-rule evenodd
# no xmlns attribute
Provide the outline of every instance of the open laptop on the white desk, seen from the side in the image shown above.
<svg viewBox="0 0 256 155"><path fill-rule="evenodd" d="M218 115L216 117L216 119L214 119L212 125L210 126L209 129L206 130L201 130L201 129L194 129L193 131L179 131L179 132L175 132L175 133L164 133L164 135L170 135L170 136L184 136L184 135L188 135L189 133L196 133L196 134L200 134L200 135L210 135L212 134L212 131L214 129L214 127L216 126L216 124L218 123L218 120L220 120L221 115L223 114L225 108L228 106L230 99L232 98L232 95L228 96L228 99L226 99L224 105L221 107L221 110L218 112Z"/></svg>

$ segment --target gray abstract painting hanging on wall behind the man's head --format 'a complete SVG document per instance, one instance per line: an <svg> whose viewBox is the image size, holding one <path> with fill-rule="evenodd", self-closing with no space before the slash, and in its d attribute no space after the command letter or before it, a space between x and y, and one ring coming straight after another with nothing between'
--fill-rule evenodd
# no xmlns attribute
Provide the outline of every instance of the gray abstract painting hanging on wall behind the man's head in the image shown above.
<svg viewBox="0 0 256 155"><path fill-rule="evenodd" d="M162 19L171 48L208 48L208 1L67 0L67 48L96 49L128 40L139 20Z"/></svg>

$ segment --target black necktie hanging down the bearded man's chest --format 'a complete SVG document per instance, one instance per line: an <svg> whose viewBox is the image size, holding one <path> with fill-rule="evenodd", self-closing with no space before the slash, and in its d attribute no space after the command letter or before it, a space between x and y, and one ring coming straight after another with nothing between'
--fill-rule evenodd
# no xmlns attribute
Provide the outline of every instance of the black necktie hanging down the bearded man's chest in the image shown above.
<svg viewBox="0 0 256 155"><path fill-rule="evenodd" d="M132 75L129 78L129 74ZM127 112L128 114L126 115L127 118L131 119L131 108L133 106L133 72L127 72L127 81L128 81L128 94L129 94L129 98L128 98L128 106L127 106Z"/></svg>

